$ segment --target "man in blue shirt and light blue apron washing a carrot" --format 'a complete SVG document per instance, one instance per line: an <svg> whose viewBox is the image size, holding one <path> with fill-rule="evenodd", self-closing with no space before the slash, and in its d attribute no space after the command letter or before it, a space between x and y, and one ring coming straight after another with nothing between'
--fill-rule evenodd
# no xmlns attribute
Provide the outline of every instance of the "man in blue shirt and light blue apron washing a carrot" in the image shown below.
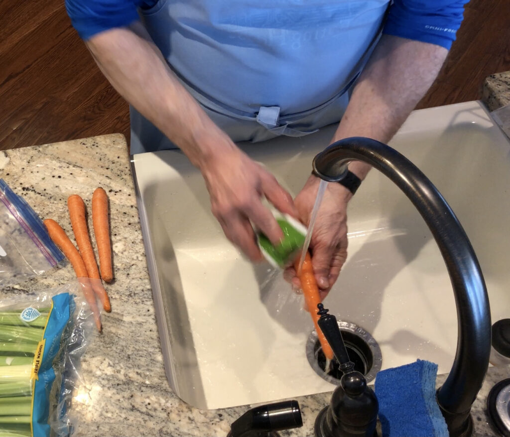
<svg viewBox="0 0 510 437"><path fill-rule="evenodd" d="M131 152L180 147L201 171L228 239L261 259L262 204L308 224L319 181L292 200L234 142L299 137L388 142L436 78L466 0L66 0L99 68L131 104ZM359 75L361 71L361 75ZM256 147L256 146L254 146ZM347 203L370 167L328 184L311 242L323 296L347 256ZM293 269L286 277L299 281Z"/></svg>

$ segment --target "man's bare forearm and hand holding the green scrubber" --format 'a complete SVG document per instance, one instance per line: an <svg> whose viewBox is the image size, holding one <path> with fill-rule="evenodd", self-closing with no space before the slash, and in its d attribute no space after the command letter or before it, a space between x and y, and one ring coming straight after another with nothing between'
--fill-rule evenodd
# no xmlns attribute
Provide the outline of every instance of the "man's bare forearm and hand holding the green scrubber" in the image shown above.
<svg viewBox="0 0 510 437"><path fill-rule="evenodd" d="M283 237L262 196L278 210L297 217L292 197L207 116L140 23L136 25L145 38L131 29L116 28L93 36L87 47L115 89L200 169L213 214L226 237L252 261L261 260L252 223L273 243Z"/></svg>

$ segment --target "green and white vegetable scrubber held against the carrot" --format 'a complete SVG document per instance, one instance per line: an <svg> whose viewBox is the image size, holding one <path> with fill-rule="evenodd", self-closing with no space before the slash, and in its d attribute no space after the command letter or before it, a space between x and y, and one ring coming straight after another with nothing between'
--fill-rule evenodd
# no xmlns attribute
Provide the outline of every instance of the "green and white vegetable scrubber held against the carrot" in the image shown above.
<svg viewBox="0 0 510 437"><path fill-rule="evenodd" d="M283 269L292 264L303 247L307 228L288 214L273 211L273 215L283 230L284 238L279 244L273 245L263 233L259 232L257 242L269 264Z"/></svg>

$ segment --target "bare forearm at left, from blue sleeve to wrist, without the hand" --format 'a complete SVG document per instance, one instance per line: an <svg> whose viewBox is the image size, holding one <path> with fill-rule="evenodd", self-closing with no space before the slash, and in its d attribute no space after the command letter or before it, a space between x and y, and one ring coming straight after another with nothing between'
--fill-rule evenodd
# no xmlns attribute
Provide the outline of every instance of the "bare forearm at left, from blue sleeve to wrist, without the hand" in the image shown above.
<svg viewBox="0 0 510 437"><path fill-rule="evenodd" d="M113 87L194 165L202 167L221 149L235 147L176 79L154 44L124 28L100 33L86 44Z"/></svg>

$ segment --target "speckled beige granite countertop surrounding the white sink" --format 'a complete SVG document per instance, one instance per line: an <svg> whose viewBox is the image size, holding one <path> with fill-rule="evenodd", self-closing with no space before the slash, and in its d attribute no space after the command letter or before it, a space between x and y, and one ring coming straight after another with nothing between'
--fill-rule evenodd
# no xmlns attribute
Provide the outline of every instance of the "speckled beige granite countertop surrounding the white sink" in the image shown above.
<svg viewBox="0 0 510 437"><path fill-rule="evenodd" d="M487 88L488 95L491 92ZM506 92L510 100L510 91ZM494 100L504 101L502 96ZM169 388L124 137L113 134L0 151L0 177L41 218L57 220L69 235L72 230L66 200L70 194L80 194L89 211L96 187L105 188L110 197L115 281L106 289L112 313L103 314L104 331L83 357L83 383L73 400L75 435L226 435L230 424L249 406L199 410L181 401ZM55 287L73 278L67 265L0 290L0 299ZM510 366L489 369L472 408L475 435L496 435L487 422L485 403L493 385L509 374ZM445 377L438 376L438 385ZM303 427L282 434L312 435L315 417L329 398L330 393L297 398Z"/></svg>

